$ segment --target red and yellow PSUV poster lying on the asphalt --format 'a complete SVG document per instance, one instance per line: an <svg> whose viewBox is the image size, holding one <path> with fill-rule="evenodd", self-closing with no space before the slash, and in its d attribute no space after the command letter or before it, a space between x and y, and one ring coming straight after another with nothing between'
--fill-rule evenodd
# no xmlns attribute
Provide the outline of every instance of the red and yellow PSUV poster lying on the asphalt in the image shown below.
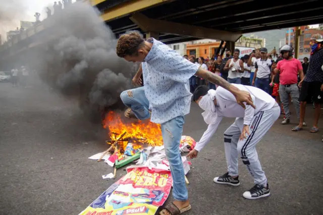
<svg viewBox="0 0 323 215"><path fill-rule="evenodd" d="M173 184L171 172L134 168L104 191L80 215L153 215Z"/></svg>

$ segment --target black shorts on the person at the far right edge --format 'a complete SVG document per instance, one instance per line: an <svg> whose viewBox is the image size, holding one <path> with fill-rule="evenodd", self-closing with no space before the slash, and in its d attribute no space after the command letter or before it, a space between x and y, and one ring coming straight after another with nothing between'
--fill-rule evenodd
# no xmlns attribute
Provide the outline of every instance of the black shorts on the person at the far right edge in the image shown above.
<svg viewBox="0 0 323 215"><path fill-rule="evenodd" d="M299 101L307 101L307 99L312 98L314 103L321 103L321 97L323 96L323 93L321 91L321 85L322 82L313 81L313 82L307 82L303 81L301 92L299 95Z"/></svg>

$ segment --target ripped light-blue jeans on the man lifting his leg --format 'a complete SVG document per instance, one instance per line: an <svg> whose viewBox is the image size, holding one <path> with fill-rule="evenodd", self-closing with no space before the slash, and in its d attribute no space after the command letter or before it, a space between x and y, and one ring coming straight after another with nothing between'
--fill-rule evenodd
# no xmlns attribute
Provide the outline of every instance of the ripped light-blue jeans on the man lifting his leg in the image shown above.
<svg viewBox="0 0 323 215"><path fill-rule="evenodd" d="M195 78L195 77L194 77ZM128 95L132 91L133 96ZM125 90L120 95L124 104L131 108L136 117L140 120L149 119L149 101L145 96L144 88ZM180 142L183 132L184 117L176 117L166 123L161 124L161 134L163 135L164 147L173 177L173 197L179 201L188 199L185 183L185 174L180 153Z"/></svg>

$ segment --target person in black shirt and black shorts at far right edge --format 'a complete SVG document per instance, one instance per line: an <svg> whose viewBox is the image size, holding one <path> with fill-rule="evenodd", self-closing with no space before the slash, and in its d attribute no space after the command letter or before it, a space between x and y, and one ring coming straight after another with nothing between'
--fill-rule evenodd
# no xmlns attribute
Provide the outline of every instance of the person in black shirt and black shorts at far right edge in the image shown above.
<svg viewBox="0 0 323 215"><path fill-rule="evenodd" d="M303 129L303 122L305 117L306 98L310 96L313 98L315 104L314 124L310 129L311 133L318 132L318 119L321 110L322 91L323 91L323 38L322 35L313 35L310 40L311 54L309 57L309 65L304 78L299 82L301 92L299 95L300 101L300 120L299 125L293 128L293 131Z"/></svg>

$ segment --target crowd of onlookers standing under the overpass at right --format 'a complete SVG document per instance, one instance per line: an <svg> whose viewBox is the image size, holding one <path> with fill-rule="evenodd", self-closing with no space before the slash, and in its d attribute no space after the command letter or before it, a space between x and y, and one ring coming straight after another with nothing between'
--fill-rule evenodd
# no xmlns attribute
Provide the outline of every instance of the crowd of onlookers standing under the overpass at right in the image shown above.
<svg viewBox="0 0 323 215"><path fill-rule="evenodd" d="M314 123L311 133L318 132L318 119L320 116L321 91L323 90L323 50L320 35L311 38L310 60L304 58L303 62L295 59L294 49L290 45L284 45L277 52L274 48L268 53L267 48L255 49L250 55L239 58L240 50L234 49L233 55L230 49L226 49L225 58L204 59L185 55L184 58L221 76L229 83L255 86L272 95L280 104L281 114L284 119L281 124L291 122L290 103L294 104L299 124L292 131L300 131L307 126L304 121L306 103L313 103L315 109ZM192 76L189 79L190 91L194 93L200 85L207 85L209 89L218 86L208 83L204 79Z"/></svg>

